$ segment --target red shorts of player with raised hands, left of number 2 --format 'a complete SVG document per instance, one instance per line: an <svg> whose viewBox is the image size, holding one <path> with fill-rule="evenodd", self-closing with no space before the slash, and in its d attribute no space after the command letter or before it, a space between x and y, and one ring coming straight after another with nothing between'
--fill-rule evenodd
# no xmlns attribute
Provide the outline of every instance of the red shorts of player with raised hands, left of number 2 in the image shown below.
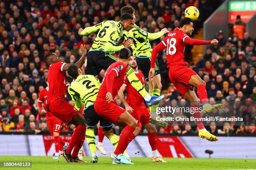
<svg viewBox="0 0 256 170"><path fill-rule="evenodd" d="M50 102L49 105L47 105L47 110L66 124L69 124L74 115L79 114L79 111L76 110L74 106L70 105L66 100Z"/></svg>

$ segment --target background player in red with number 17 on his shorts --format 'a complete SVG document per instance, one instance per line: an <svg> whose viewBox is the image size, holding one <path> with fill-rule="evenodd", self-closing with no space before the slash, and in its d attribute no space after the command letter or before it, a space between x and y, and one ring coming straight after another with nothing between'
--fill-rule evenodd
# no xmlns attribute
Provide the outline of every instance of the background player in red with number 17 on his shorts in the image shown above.
<svg viewBox="0 0 256 170"><path fill-rule="evenodd" d="M38 107L41 110L42 114L46 114L47 126L51 135L54 137L55 144L55 154L53 159L59 159L59 150L60 145L63 145L64 150L67 149L69 143L65 142L62 138L59 137L59 133L61 130L61 120L55 117L51 112L46 109L46 97L48 94L48 87L44 88L40 91L38 97ZM44 108L42 103L44 103Z"/></svg>

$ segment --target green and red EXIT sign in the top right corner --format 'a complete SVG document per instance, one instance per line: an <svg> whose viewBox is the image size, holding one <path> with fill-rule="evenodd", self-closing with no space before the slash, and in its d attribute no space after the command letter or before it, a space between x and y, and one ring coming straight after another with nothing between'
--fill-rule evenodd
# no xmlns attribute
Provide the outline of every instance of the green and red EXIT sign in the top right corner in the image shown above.
<svg viewBox="0 0 256 170"><path fill-rule="evenodd" d="M256 1L230 1L228 4L229 23L236 22L236 16L246 23L256 13Z"/></svg>

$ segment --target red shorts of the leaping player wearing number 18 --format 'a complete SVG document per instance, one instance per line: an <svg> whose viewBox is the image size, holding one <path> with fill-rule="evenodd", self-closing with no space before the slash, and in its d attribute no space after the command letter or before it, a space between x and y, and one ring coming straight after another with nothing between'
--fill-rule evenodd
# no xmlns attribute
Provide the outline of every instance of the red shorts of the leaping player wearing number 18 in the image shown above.
<svg viewBox="0 0 256 170"><path fill-rule="evenodd" d="M169 67L169 79L182 95L188 90L193 90L193 87L188 85L192 75L197 75L197 73L185 65L171 65Z"/></svg>

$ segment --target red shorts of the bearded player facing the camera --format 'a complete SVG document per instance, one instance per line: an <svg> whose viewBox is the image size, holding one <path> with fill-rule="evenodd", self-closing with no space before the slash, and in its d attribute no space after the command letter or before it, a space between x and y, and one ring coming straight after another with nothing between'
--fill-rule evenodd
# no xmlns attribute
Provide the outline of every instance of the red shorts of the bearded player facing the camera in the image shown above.
<svg viewBox="0 0 256 170"><path fill-rule="evenodd" d="M134 108L131 115L138 121L137 126L145 125L150 122L150 113L146 107Z"/></svg>

